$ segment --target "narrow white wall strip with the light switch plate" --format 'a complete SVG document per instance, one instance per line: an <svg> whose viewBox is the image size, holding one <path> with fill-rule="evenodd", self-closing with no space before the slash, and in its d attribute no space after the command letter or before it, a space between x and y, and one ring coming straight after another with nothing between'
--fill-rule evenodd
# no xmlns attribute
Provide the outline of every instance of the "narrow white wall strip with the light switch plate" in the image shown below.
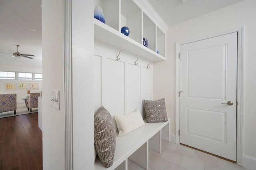
<svg viewBox="0 0 256 170"><path fill-rule="evenodd" d="M42 0L42 127L44 170L65 169L64 2ZM51 91L60 91L60 110L51 107Z"/></svg>

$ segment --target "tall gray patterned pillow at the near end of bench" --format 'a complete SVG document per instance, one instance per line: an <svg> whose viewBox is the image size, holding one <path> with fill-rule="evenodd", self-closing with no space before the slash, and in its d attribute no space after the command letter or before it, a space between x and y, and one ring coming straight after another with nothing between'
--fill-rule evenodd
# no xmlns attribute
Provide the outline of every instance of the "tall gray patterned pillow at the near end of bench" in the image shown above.
<svg viewBox="0 0 256 170"><path fill-rule="evenodd" d="M97 154L108 168L112 166L116 148L116 128L110 113L101 107L94 118L94 145Z"/></svg>

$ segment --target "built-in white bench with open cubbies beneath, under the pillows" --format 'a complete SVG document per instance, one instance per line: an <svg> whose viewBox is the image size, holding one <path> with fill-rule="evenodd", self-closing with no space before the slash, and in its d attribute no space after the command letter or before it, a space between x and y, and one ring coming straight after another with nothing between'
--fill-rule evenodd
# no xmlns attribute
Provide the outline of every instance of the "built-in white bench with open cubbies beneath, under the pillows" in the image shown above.
<svg viewBox="0 0 256 170"><path fill-rule="evenodd" d="M148 170L148 148L157 152L161 151L162 128L168 126L167 136L169 141L170 120L167 122L146 123L124 136L116 134L116 151L113 165L105 168L97 157L94 170L127 170L128 158Z"/></svg>

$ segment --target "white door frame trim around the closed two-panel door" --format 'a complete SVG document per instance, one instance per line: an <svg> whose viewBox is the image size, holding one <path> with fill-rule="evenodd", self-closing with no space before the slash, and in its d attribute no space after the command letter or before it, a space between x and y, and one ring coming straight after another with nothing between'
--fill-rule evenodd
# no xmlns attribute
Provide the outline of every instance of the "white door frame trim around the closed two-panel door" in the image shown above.
<svg viewBox="0 0 256 170"><path fill-rule="evenodd" d="M236 124L236 164L243 166L243 116L244 116L244 26L220 32L214 35L205 36L199 39L190 40L186 42L176 43L176 129L175 129L175 142L180 143L180 45L205 40L216 36L222 36L237 32L237 124Z"/></svg>

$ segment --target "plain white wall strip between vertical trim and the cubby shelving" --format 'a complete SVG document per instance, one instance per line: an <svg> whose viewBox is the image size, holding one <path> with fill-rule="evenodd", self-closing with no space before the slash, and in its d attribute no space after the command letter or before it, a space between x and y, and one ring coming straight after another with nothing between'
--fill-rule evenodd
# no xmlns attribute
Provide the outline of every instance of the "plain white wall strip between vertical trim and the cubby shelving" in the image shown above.
<svg viewBox="0 0 256 170"><path fill-rule="evenodd" d="M94 170L93 0L72 0L74 170Z"/></svg>

